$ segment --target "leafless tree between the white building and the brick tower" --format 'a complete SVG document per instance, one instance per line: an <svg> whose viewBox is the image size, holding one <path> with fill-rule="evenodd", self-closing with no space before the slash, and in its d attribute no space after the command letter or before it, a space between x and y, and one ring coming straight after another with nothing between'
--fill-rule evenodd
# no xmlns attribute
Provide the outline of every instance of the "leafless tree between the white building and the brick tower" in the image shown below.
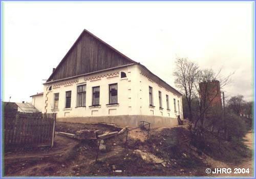
<svg viewBox="0 0 256 179"><path fill-rule="evenodd" d="M194 96L194 85L199 73L199 66L196 63L187 60L187 58L177 58L175 64L175 84L185 95L188 104L189 119L192 120L193 113L191 102Z"/></svg>

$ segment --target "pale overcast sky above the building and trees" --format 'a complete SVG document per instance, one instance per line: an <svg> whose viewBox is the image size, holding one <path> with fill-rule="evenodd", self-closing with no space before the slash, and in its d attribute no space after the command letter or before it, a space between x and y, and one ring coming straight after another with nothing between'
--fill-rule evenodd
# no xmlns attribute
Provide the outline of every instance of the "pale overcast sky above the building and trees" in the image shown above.
<svg viewBox="0 0 256 179"><path fill-rule="evenodd" d="M178 57L252 101L251 2L4 2L4 101L31 102L83 29L175 87Z"/></svg>

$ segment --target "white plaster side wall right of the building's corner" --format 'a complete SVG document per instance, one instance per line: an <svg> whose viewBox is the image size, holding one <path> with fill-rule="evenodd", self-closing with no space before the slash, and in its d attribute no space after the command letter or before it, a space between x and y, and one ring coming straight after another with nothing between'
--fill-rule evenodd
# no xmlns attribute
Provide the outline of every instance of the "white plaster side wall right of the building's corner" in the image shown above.
<svg viewBox="0 0 256 179"><path fill-rule="evenodd" d="M153 87L153 105L155 107L150 106L150 97L149 97L149 86ZM163 116L163 117L170 117L170 118L177 118L180 115L183 118L182 113L182 96L170 92L164 87L158 85L156 82L151 81L144 75L140 74L140 85L139 85L140 97L139 97L139 104L140 104L140 114L141 115L153 115L154 116ZM159 105L159 97L158 92L162 93L162 108L160 109ZM166 103L166 95L169 96L169 109L167 110L167 103ZM176 99L176 110L174 111L174 98ZM180 111L178 111L178 100L180 101ZM161 113L162 112L162 113Z"/></svg>

